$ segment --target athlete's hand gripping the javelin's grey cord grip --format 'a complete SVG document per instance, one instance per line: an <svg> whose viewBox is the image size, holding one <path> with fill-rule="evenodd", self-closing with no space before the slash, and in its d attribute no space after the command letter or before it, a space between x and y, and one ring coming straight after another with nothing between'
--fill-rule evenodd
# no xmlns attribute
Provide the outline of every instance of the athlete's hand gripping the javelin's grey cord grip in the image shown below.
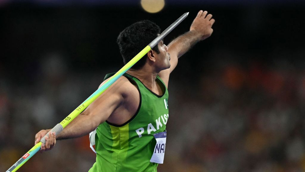
<svg viewBox="0 0 305 172"><path fill-rule="evenodd" d="M46 136L45 136L46 135ZM40 153L44 151L51 150L56 143L56 135L55 132L47 131L47 130L41 130L35 135L35 144L37 144L41 138L45 136L45 144L41 144Z"/></svg>

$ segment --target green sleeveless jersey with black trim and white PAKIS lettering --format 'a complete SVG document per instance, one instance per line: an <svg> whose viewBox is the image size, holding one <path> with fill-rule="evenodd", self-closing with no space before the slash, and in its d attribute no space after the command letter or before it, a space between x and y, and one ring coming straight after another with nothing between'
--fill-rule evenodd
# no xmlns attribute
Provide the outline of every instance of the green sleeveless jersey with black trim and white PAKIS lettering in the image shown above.
<svg viewBox="0 0 305 172"><path fill-rule="evenodd" d="M112 73L113 75L114 73ZM112 76L106 75L105 79ZM127 73L123 76L137 86L140 104L136 114L122 125L103 122L96 129L96 162L89 172L156 172L151 163L156 139L153 134L165 131L168 119L168 91L159 76L163 95L156 95Z"/></svg>

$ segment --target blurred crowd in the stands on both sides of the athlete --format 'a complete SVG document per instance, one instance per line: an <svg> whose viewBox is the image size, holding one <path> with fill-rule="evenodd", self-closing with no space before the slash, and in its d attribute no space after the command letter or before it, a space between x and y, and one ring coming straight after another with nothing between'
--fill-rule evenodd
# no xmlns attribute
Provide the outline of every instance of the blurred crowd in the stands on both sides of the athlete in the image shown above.
<svg viewBox="0 0 305 172"><path fill-rule="evenodd" d="M166 159L158 171L305 171L305 70L298 67L304 61L224 63L219 53L210 56L212 64L202 64L210 65L209 72L178 67L172 74ZM56 53L37 64L32 70L41 74L34 82L1 79L0 171L34 145L35 133L52 128L84 101L105 75L69 71ZM58 141L22 171L87 171L94 161L84 136Z"/></svg>

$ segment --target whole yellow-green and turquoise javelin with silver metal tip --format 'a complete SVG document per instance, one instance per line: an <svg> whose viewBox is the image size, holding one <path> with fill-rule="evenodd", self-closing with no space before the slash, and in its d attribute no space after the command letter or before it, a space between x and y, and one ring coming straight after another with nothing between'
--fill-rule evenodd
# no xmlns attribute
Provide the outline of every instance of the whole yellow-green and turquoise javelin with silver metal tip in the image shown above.
<svg viewBox="0 0 305 172"><path fill-rule="evenodd" d="M168 33L170 33L178 24L181 23L188 13L184 13L179 17L173 24L171 24L167 29L165 29L156 39L149 43L142 51L140 51L134 58L130 60L126 65L124 65L117 73L115 73L108 81L106 81L99 89L97 89L90 97L88 97L80 106L78 106L73 112L71 112L62 122L55 125L51 132L55 132L56 136L63 131L74 118L77 117L82 111L84 111L99 95L101 95L107 88L110 87L119 77L121 77L128 69L130 69L136 62L138 62L145 54L147 54L153 47L155 47L160 40L162 40ZM45 135L46 136L46 135ZM45 136L37 143L33 148L31 148L23 157L21 157L13 166L11 166L6 172L17 171L24 163L27 162L33 155L35 155L41 147L41 144L45 144Z"/></svg>

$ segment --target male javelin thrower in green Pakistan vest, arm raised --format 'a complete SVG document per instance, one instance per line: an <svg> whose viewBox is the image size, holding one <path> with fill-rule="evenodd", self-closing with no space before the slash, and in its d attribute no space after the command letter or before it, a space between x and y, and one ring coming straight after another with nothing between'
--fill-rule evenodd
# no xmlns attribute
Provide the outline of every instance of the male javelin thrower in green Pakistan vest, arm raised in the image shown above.
<svg viewBox="0 0 305 172"><path fill-rule="evenodd" d="M174 39L168 47L160 41L58 136L50 129L41 130L35 135L35 144L49 132L46 143L41 145L43 152L52 149L56 139L91 133L96 162L89 172L156 172L158 163L163 163L166 145L169 75L179 57L212 34L214 22L207 11L199 11L189 32ZM124 63L159 34L159 26L151 21L125 28L117 39ZM110 76L106 75L104 82Z"/></svg>

